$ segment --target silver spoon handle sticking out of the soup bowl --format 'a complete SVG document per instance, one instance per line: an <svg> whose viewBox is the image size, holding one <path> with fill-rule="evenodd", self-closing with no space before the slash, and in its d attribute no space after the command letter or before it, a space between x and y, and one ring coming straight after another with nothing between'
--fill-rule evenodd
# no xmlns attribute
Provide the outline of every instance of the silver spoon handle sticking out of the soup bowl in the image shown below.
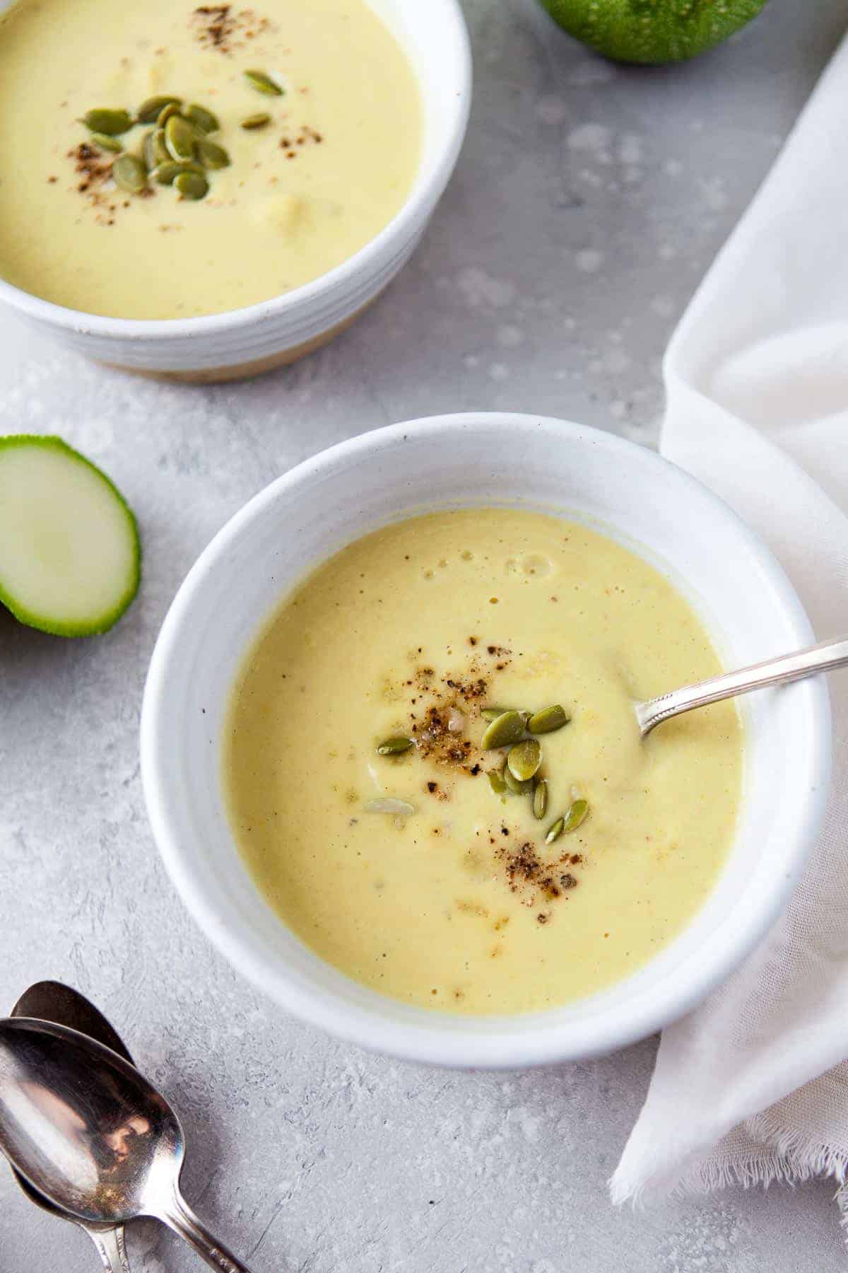
<svg viewBox="0 0 848 1273"><path fill-rule="evenodd" d="M765 685L786 685L788 681L800 681L805 676L826 672L833 667L844 667L847 663L848 636L837 636L834 640L823 640L820 645L796 651L795 654L768 658L764 663L741 667L737 672L725 672L722 676L713 676L697 685L685 685L681 690L670 690L669 694L661 694L659 699L637 703L634 705L636 721L645 738L664 721L670 721L671 717L680 715L683 712L692 712L693 708L703 708L708 703L718 703L721 699L732 699L736 694L748 694L750 690L759 690Z"/></svg>

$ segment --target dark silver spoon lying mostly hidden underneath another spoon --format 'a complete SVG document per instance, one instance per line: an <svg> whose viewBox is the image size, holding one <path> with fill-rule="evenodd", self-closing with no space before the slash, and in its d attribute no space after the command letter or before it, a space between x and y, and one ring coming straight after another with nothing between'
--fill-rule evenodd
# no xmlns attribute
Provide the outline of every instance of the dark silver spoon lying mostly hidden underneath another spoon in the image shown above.
<svg viewBox="0 0 848 1273"><path fill-rule="evenodd" d="M11 1016L37 1017L39 1021L55 1021L60 1026L79 1030L81 1034L86 1034L89 1039L97 1039L98 1043L111 1048L112 1051L117 1051L120 1057L125 1057L132 1064L132 1057L103 1013L98 1012L84 994L80 994L79 990L72 990L70 985L62 985L61 981L36 981L34 985L31 985L20 995L11 1009ZM47 1198L43 1198L33 1189L19 1171L15 1171L14 1167L11 1170L15 1180L31 1202L34 1202L37 1207L41 1207L42 1211L48 1212L51 1216L70 1220L71 1223L79 1225L80 1228L85 1230L103 1260L106 1273L130 1273L127 1248L123 1240L123 1225L86 1225L85 1221L76 1220L58 1207L53 1207L52 1202L48 1202Z"/></svg>

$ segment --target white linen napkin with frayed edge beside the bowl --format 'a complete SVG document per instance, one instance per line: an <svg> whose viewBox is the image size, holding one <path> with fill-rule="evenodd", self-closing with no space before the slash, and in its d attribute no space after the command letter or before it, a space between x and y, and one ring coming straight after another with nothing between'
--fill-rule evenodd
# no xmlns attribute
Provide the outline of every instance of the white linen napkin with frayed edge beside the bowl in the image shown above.
<svg viewBox="0 0 848 1273"><path fill-rule="evenodd" d="M819 640L848 631L848 39L678 327L661 451L770 545ZM834 783L788 911L662 1034L614 1202L835 1178L848 1194L848 671Z"/></svg>

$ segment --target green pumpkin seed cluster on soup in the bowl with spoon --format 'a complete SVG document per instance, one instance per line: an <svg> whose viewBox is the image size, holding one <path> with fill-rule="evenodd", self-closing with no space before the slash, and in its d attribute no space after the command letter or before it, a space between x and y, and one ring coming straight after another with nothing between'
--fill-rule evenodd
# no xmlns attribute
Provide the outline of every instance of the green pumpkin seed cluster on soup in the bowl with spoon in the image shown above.
<svg viewBox="0 0 848 1273"><path fill-rule="evenodd" d="M529 796L533 816L540 822L548 811L548 779L540 775L542 743L538 735L553 733L568 724L571 717L566 709L554 703L540 712L519 712L516 708L483 708L482 717L488 721L481 746L483 751L509 747L500 769L488 773L492 791L497 796L510 792L514 796ZM589 802L575 799L566 812L548 827L545 844L553 844L561 835L576 831L589 813Z"/></svg>

